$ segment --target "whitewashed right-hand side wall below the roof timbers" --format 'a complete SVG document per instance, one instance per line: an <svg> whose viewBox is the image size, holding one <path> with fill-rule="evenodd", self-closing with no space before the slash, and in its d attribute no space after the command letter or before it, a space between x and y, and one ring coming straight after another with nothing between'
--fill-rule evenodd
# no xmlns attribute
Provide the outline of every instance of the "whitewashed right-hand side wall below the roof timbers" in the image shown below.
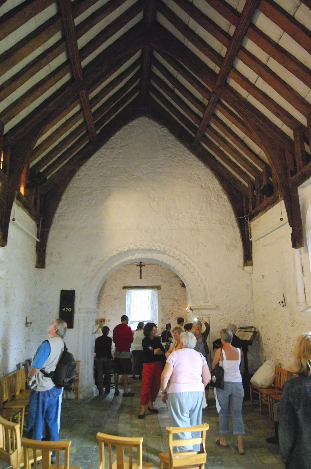
<svg viewBox="0 0 311 469"><path fill-rule="evenodd" d="M311 186L305 186L300 190L304 224L311 203ZM285 225L272 227L280 222L280 204L251 223L252 237L268 232L253 242L252 280L261 359L274 358L288 368L297 336L311 330L311 275L307 243L300 250L292 249L283 202L281 207ZM279 305L283 294L285 307Z"/></svg>

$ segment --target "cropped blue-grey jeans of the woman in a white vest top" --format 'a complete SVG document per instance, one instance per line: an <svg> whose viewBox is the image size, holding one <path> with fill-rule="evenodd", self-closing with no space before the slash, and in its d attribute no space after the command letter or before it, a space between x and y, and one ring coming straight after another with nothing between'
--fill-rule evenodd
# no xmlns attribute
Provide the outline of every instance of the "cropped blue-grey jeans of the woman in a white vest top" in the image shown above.
<svg viewBox="0 0 311 469"><path fill-rule="evenodd" d="M219 428L222 435L230 431L229 426L229 406L232 417L233 435L245 435L242 420L242 403L244 389L242 383L225 381L224 389L217 388L217 399L220 405Z"/></svg>

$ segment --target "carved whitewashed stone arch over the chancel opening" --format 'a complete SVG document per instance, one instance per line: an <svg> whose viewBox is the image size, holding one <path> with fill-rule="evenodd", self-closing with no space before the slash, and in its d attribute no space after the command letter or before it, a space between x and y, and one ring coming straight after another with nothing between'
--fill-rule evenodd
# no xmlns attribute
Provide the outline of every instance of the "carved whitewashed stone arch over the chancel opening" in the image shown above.
<svg viewBox="0 0 311 469"><path fill-rule="evenodd" d="M95 309L100 289L109 277L123 265L143 262L155 262L175 272L184 282L190 304L209 305L208 286L194 261L181 251L161 243L135 243L120 246L101 260L91 266L92 270L86 277L79 306Z"/></svg>

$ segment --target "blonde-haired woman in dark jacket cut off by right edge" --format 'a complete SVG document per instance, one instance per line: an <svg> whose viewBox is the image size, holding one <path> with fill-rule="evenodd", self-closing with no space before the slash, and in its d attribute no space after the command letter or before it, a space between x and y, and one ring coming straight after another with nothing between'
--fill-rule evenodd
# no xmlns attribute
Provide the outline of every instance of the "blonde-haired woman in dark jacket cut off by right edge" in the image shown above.
<svg viewBox="0 0 311 469"><path fill-rule="evenodd" d="M294 349L294 373L282 388L279 441L286 469L311 468L311 332Z"/></svg>

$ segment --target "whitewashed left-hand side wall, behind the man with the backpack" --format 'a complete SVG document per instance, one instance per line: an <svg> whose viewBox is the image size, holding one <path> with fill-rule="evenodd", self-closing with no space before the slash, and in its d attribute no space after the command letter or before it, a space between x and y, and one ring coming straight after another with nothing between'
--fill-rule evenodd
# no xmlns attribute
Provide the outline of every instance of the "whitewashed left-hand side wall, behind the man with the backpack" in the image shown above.
<svg viewBox="0 0 311 469"><path fill-rule="evenodd" d="M35 222L23 209L14 204L11 219L13 213L16 221L37 234ZM0 248L0 376L30 358L45 339L41 338L43 311L35 293L35 249L36 241L10 223L8 245ZM26 316L30 327L25 326Z"/></svg>

